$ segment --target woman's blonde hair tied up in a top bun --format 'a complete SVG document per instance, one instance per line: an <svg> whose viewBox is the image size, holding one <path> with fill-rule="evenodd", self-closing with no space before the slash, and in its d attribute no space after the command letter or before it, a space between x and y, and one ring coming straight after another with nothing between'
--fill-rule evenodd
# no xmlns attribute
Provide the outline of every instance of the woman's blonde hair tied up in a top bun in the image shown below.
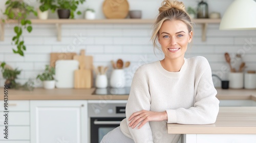
<svg viewBox="0 0 256 143"><path fill-rule="evenodd" d="M162 2L162 6L158 9L158 11L159 11L159 14L158 14L157 20L153 25L154 28L153 28L153 34L151 37L151 40L153 40L154 47L159 48L157 45L159 30L163 22L166 20L181 20L187 25L187 30L189 33L190 31L193 31L191 18L187 14L185 10L185 6L182 2L164 0Z"/></svg>

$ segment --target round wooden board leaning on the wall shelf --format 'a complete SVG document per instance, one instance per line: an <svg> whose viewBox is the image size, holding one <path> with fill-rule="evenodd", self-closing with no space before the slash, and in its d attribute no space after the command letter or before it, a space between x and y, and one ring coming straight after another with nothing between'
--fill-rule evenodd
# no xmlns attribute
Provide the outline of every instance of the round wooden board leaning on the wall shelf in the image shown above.
<svg viewBox="0 0 256 143"><path fill-rule="evenodd" d="M129 13L127 0L105 0L102 11L106 18L125 18Z"/></svg>

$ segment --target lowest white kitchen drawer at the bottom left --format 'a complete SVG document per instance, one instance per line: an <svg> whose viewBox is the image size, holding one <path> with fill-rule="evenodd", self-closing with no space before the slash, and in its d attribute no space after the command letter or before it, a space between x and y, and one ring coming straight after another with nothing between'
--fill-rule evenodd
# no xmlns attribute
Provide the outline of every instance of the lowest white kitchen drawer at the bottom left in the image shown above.
<svg viewBox="0 0 256 143"><path fill-rule="evenodd" d="M9 130L8 130L8 139L15 139L15 140L30 140L30 127L26 126L26 127L15 127L15 126L9 126ZM5 127L4 126L0 126L0 131L2 132L0 134L0 140L5 139L4 138L4 131ZM9 142L8 142L9 143Z"/></svg>

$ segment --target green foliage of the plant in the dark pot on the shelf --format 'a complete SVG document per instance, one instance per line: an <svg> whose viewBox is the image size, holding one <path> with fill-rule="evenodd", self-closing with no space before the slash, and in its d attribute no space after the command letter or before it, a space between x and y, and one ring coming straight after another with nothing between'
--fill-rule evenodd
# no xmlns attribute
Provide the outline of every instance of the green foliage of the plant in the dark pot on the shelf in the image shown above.
<svg viewBox="0 0 256 143"><path fill-rule="evenodd" d="M74 18L75 11L79 4L83 4L86 0L57 0L58 9L68 9L70 10L70 18ZM81 11L76 12L77 15L82 14Z"/></svg>

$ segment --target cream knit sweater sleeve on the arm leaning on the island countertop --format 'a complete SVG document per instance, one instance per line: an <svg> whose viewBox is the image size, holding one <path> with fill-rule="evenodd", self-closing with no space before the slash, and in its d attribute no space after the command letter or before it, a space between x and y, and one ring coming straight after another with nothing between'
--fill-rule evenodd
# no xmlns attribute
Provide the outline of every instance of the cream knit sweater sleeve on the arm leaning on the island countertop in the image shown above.
<svg viewBox="0 0 256 143"><path fill-rule="evenodd" d="M194 106L188 109L168 109L166 110L167 123L178 124L213 124L219 112L219 100L216 98L217 90L214 87L211 78L211 68L205 59L202 73L197 75L198 85L195 86ZM200 70L197 69L197 70Z"/></svg>

